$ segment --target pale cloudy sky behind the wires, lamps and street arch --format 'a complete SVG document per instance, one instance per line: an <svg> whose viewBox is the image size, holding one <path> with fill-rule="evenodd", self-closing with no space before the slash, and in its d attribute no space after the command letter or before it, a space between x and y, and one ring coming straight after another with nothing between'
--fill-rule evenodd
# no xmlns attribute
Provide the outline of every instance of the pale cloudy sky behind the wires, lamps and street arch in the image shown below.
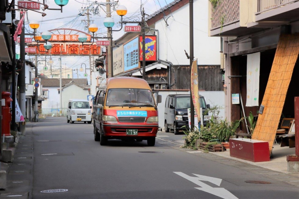
<svg viewBox="0 0 299 199"><path fill-rule="evenodd" d="M39 0L42 2L43 0ZM165 5L173 2L174 0L110 0L110 2L117 2L115 5L115 9L118 5L126 6L128 13L123 17L123 20L128 21L140 21L141 20L141 6L145 9L145 13L148 15L153 14L157 10L161 9ZM46 16L42 17L41 13L34 12L28 10L27 15L25 16L25 33L33 32L33 29L29 27L30 20L37 20L40 23L39 28L36 30L38 33L42 33L44 31L58 29L58 28L71 28L76 30L81 30L87 32L87 10L89 8L89 20L90 23L95 23L99 30L96 32L97 37L106 37L107 36L107 28L103 25L103 20L106 18L106 7L104 5L97 5L95 2L106 2L106 0L95 1L95 0L69 0L68 4L63 6L63 12L60 10L38 10L39 12L45 12ZM49 6L49 8L60 8L55 4L54 0L45 0L45 3ZM112 18L114 19L115 25L113 26L113 30L120 29L119 24L120 17L117 15L116 11L112 11ZM20 19L20 12L16 12L16 18ZM134 24L132 24L134 25ZM137 24L135 24L137 25ZM57 32L58 34L58 32ZM74 34L74 33L70 33ZM123 29L120 31L113 32L113 40L121 37L124 34ZM16 45L16 53L20 52L20 46ZM34 56L27 56L26 59L33 59ZM59 69L59 56L52 56L53 64L52 69ZM38 60L45 60L48 62L49 56L38 56ZM62 57L62 66L66 68L74 69L74 78L77 78L77 68L80 69L81 65L84 68L83 72L78 70L78 77L84 78L85 73L85 65L86 68L89 68L89 58L88 56L64 56ZM41 71L43 66L45 65L44 61L38 62L38 70ZM48 64L47 64L48 65ZM50 67L48 67L50 68ZM89 74L88 70L87 73ZM88 78L88 83L89 78Z"/></svg>

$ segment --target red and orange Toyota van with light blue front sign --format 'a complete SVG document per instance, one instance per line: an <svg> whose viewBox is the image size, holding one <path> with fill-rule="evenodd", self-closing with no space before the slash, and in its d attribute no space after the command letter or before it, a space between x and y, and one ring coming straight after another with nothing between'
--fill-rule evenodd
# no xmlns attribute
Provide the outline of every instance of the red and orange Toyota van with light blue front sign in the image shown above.
<svg viewBox="0 0 299 199"><path fill-rule="evenodd" d="M157 102L149 84L135 77L104 79L93 104L95 141L106 145L108 139L147 140L155 145L159 127Z"/></svg>

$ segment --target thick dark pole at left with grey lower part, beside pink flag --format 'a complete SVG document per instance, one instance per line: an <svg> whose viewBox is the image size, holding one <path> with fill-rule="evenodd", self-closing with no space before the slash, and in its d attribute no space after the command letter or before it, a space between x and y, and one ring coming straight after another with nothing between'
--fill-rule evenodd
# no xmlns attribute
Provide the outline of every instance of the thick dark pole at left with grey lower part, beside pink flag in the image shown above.
<svg viewBox="0 0 299 199"><path fill-rule="evenodd" d="M20 19L22 19L23 13L20 12ZM20 62L22 63L22 69L20 71L20 110L24 116L25 121L20 122L20 132L22 135L26 134L25 122L26 122L26 94L25 94L25 30L22 26L22 32L20 35ZM15 80L13 80L15 81ZM14 113L15 114L15 113Z"/></svg>

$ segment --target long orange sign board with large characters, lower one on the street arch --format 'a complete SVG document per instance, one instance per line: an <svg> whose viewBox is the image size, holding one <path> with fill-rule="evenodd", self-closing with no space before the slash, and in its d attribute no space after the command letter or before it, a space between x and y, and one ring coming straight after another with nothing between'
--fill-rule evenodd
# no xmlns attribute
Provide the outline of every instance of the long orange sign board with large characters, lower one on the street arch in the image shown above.
<svg viewBox="0 0 299 199"><path fill-rule="evenodd" d="M82 45L81 43L52 43L48 52L44 45L29 46L36 48L36 52L28 52L28 55L62 55L62 56L97 56L102 55L101 47L97 45ZM38 51L39 49L39 51Z"/></svg>

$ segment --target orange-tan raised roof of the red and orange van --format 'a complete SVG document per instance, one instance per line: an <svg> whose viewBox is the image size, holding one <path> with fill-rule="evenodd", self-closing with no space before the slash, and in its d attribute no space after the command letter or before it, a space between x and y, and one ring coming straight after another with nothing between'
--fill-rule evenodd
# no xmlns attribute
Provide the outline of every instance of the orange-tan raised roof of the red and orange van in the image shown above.
<svg viewBox="0 0 299 199"><path fill-rule="evenodd" d="M110 77L101 82L101 87L111 88L136 88L150 89L149 84L141 78L137 77Z"/></svg>

